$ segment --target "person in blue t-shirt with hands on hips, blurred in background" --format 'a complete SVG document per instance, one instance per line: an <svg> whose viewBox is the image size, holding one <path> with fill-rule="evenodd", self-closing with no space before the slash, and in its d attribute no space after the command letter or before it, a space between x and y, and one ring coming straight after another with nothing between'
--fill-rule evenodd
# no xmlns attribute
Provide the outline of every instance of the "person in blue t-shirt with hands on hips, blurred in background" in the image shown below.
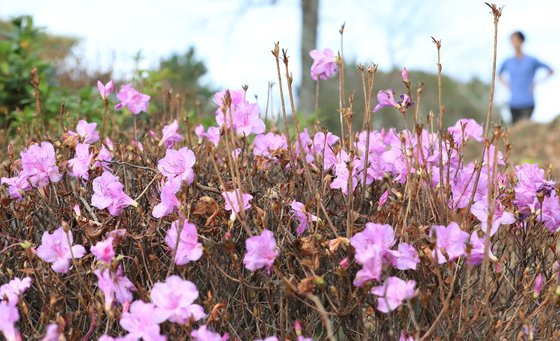
<svg viewBox="0 0 560 341"><path fill-rule="evenodd" d="M547 64L533 56L526 55L523 52L523 42L525 42L525 35L522 32L512 33L511 44L515 50L515 55L507 58L498 72L500 82L509 88L511 92L509 107L512 124L521 119L530 119L533 114L533 109L535 108L533 93L537 70L540 68L548 70L548 74L544 79L554 73ZM504 73L508 75L507 80L503 77Z"/></svg>

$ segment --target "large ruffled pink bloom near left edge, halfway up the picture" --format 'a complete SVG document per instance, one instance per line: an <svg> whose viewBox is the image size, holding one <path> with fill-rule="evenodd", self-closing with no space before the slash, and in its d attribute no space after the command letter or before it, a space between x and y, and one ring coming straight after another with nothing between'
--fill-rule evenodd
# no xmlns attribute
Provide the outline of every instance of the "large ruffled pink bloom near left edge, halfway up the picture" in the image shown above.
<svg viewBox="0 0 560 341"><path fill-rule="evenodd" d="M21 152L22 172L33 187L45 187L50 182L61 179L56 165L54 147L50 142L34 143Z"/></svg>

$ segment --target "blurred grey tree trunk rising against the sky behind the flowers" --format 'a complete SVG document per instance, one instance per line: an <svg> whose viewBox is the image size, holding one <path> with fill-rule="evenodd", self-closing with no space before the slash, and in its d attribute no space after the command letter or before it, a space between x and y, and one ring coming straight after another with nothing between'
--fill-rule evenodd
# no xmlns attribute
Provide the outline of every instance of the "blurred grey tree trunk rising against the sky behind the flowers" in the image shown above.
<svg viewBox="0 0 560 341"><path fill-rule="evenodd" d="M313 60L309 51L317 46L317 26L319 24L319 0L301 1L301 75L298 88L298 111L305 117L315 111L315 81L309 70Z"/></svg>

